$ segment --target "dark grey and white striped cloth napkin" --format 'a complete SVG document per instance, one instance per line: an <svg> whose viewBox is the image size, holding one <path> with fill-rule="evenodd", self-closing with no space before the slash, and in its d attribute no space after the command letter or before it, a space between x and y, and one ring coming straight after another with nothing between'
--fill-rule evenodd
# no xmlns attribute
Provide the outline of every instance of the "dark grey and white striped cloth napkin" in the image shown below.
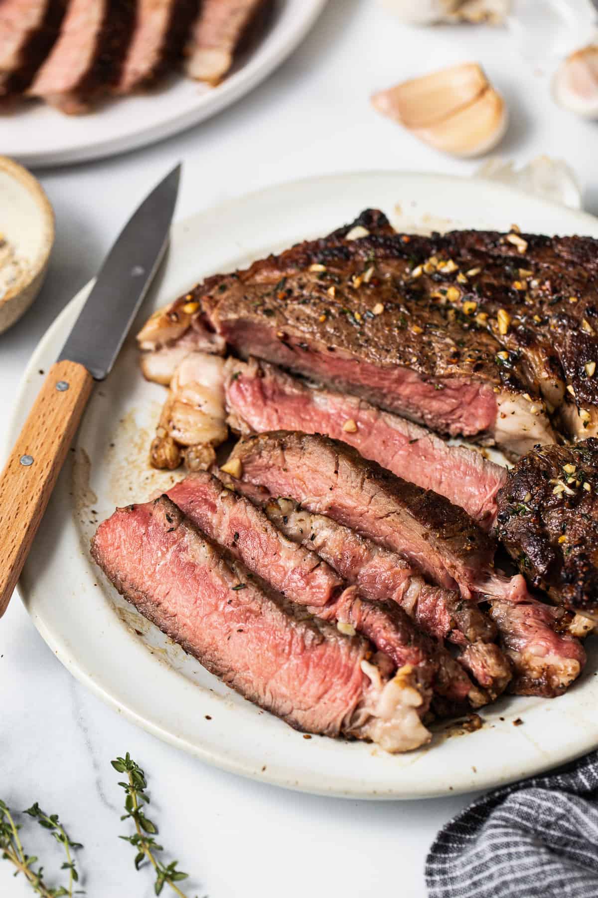
<svg viewBox="0 0 598 898"><path fill-rule="evenodd" d="M497 789L438 833L429 898L597 898L598 752Z"/></svg>

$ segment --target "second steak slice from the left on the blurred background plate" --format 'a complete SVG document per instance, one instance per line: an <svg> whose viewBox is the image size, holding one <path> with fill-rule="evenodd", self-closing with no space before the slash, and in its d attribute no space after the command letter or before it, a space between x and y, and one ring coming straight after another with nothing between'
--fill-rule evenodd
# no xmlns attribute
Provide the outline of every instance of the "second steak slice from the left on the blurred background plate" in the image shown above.
<svg viewBox="0 0 598 898"><path fill-rule="evenodd" d="M76 114L112 90L130 44L135 8L134 0L70 0L58 40L30 95Z"/></svg>

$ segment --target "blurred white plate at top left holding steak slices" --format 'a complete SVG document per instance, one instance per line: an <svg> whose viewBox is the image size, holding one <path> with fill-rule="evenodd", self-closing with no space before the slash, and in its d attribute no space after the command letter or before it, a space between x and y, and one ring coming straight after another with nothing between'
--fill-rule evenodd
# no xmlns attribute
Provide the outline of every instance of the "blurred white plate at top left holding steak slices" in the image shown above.
<svg viewBox="0 0 598 898"><path fill-rule="evenodd" d="M326 0L278 0L273 22L218 87L174 77L163 89L111 101L84 116L38 103L5 120L2 152L24 165L64 165L133 150L190 128L256 87L306 36Z"/></svg>

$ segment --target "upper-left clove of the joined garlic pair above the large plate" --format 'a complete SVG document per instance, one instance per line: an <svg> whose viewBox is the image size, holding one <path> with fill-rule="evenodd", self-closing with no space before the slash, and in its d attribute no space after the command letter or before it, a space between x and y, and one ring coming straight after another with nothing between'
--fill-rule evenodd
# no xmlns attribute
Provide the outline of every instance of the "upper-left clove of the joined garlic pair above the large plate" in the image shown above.
<svg viewBox="0 0 598 898"><path fill-rule="evenodd" d="M463 63L375 93L372 103L406 128L426 128L471 103L487 87L481 66Z"/></svg>

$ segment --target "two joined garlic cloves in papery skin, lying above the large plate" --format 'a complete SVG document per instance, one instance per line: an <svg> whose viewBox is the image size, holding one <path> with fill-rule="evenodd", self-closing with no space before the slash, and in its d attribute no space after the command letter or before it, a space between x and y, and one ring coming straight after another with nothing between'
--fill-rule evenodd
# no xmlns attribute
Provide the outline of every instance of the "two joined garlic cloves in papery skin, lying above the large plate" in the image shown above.
<svg viewBox="0 0 598 898"><path fill-rule="evenodd" d="M507 106L478 63L424 75L372 97L374 107L443 153L488 153L505 135Z"/></svg>

